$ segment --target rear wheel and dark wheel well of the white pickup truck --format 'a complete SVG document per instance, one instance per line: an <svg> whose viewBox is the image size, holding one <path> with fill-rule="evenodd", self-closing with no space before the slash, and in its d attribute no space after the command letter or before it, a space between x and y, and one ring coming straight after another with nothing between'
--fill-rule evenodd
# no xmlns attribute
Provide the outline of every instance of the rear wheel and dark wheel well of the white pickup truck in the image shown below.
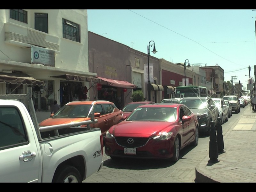
<svg viewBox="0 0 256 192"><path fill-rule="evenodd" d="M59 167L52 179L53 183L82 183L82 177L74 166Z"/></svg>

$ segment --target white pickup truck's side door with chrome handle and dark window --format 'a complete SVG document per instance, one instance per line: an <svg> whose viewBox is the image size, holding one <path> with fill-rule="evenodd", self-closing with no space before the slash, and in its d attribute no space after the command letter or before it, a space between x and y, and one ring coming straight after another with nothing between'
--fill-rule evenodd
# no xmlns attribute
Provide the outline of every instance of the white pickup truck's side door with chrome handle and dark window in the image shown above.
<svg viewBox="0 0 256 192"><path fill-rule="evenodd" d="M21 116L27 114L13 107L0 108L0 182L41 181L42 157L36 133Z"/></svg>

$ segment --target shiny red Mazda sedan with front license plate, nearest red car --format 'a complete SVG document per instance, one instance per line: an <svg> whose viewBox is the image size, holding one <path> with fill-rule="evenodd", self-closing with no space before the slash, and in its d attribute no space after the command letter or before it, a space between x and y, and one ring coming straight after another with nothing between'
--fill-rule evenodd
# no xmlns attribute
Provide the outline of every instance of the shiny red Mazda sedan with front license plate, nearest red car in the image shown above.
<svg viewBox="0 0 256 192"><path fill-rule="evenodd" d="M147 104L137 107L106 133L105 153L111 158L170 159L180 150L198 144L199 124L182 104Z"/></svg>

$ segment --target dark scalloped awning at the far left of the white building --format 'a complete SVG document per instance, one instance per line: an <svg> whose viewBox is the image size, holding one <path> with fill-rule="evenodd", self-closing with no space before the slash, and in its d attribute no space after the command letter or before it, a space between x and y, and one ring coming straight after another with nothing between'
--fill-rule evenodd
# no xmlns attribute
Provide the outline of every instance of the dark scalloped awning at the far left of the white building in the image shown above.
<svg viewBox="0 0 256 192"><path fill-rule="evenodd" d="M11 84L45 85L44 81L36 80L26 73L2 73L0 72L0 82Z"/></svg>

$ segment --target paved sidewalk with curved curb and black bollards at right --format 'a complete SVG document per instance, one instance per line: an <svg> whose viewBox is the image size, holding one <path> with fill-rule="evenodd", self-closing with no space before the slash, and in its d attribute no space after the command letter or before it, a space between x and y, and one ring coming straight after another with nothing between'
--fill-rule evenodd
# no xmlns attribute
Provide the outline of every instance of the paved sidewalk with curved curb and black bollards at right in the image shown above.
<svg viewBox="0 0 256 192"><path fill-rule="evenodd" d="M208 153L196 166L195 182L256 182L255 121L256 113L246 106L241 116L223 133L225 152L218 154L219 162L209 163Z"/></svg>

